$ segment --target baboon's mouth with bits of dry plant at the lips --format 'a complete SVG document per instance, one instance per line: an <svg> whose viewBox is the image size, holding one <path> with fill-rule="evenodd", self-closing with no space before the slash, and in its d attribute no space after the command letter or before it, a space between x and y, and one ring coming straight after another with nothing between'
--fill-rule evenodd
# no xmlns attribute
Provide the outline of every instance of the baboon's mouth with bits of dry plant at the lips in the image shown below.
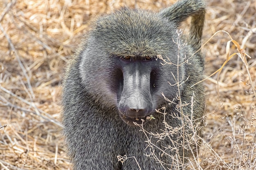
<svg viewBox="0 0 256 170"><path fill-rule="evenodd" d="M137 124L138 125L144 125L144 124L146 124L148 121L149 121L149 119L150 119L150 116L146 116L146 117L142 117L142 118L140 118L140 117L138 117L138 118L130 118L130 117L128 117L128 116L124 116L122 113L119 113L119 116L120 116L120 118L124 121L124 122L126 122L128 125L130 125L130 126L137 126Z"/></svg>

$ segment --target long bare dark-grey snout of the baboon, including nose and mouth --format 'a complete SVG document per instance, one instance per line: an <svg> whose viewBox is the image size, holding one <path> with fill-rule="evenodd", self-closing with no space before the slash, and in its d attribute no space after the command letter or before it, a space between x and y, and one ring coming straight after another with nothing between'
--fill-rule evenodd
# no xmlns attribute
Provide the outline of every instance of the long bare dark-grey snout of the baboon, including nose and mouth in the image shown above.
<svg viewBox="0 0 256 170"><path fill-rule="evenodd" d="M119 115L124 122L134 125L147 121L153 112L153 100L150 93L150 69L139 64L124 68L124 88L118 103Z"/></svg>

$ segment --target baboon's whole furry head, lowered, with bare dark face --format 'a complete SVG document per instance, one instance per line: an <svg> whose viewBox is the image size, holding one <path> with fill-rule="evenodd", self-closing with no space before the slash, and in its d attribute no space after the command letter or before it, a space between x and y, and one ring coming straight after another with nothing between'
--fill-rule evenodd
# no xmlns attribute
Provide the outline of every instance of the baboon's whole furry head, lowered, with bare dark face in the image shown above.
<svg viewBox="0 0 256 170"><path fill-rule="evenodd" d="M176 38L174 23L147 11L124 8L101 17L80 54L85 89L101 107L117 108L127 124L145 124L166 102L162 92L171 99L176 96L177 87L169 83L176 83L177 67L163 66L157 59L161 55L177 64Z"/></svg>

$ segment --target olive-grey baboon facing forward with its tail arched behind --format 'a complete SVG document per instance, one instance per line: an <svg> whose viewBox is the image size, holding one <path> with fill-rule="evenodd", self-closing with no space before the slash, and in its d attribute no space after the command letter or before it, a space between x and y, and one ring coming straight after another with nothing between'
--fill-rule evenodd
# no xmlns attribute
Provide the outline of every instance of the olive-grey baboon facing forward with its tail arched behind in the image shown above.
<svg viewBox="0 0 256 170"><path fill-rule="evenodd" d="M155 148L161 159L156 161L145 155L152 148L139 129L161 132L163 119L173 128L182 126L179 118L191 118L192 96L191 119L202 123L204 85L191 86L203 79L204 57L197 50L204 14L203 0L181 0L159 13L122 7L92 24L63 80L63 134L74 170L134 170L138 169L135 159L143 170L177 169L176 156L186 163L192 152L177 146L184 142L182 135L152 137L155 146L176 149ZM189 37L180 36L177 29L188 17ZM158 56L171 64L163 64ZM178 91L186 104L181 112ZM156 113L163 107L165 115ZM192 133L185 130L185 137ZM135 159L121 163L117 155Z"/></svg>

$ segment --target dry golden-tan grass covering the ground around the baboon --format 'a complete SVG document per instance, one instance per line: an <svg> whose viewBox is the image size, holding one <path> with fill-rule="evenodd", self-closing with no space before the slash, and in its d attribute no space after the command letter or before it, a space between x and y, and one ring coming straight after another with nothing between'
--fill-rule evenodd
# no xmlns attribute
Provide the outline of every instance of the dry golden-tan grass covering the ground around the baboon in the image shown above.
<svg viewBox="0 0 256 170"><path fill-rule="evenodd" d="M62 73L89 22L120 5L157 11L175 0L2 0L0 2L0 169L69 169L60 131ZM255 0L208 0L204 41L227 31L252 59L256 82ZM186 23L183 28L187 29ZM254 32L252 32L252 31ZM250 32L251 31L251 32ZM203 48L206 74L226 60L229 37L218 33ZM236 46L230 46L231 54ZM207 85L202 169L255 169L256 109L242 60L233 57ZM218 100L220 100L220 105Z"/></svg>

